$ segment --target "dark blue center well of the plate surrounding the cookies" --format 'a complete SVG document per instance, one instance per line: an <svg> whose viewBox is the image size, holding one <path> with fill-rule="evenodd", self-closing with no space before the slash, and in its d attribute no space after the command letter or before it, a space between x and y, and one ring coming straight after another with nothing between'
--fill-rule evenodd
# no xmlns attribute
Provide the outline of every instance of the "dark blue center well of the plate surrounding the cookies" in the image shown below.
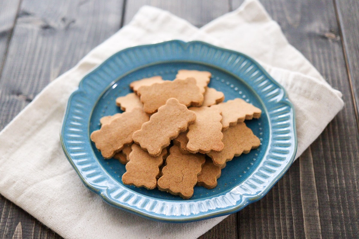
<svg viewBox="0 0 359 239"><path fill-rule="evenodd" d="M100 128L99 119L101 117L122 112L120 108L116 106L115 100L119 96L125 96L126 94L132 92L129 87L129 84L132 81L156 75L162 76L164 80L173 80L177 71L181 69L211 72L212 78L209 83L209 87L222 91L225 95L225 101L241 98L262 110L262 116L260 119L246 121L247 126L252 129L253 133L257 135L258 138L261 139L261 146L258 149L252 150L248 154L242 154L241 156L235 157L232 161L228 162L227 166L222 169L222 175L218 179L218 186L214 189L209 190L204 187L196 186L194 189L194 195L190 200L204 199L206 197L213 197L229 191L239 183L243 182L257 168L268 147L266 142L269 142L269 122L264 111L264 105L258 95L247 85L247 83L237 76L234 76L233 74L215 66L196 62L164 62L141 67L125 76L120 77L103 92L97 104L94 106L93 113L90 118L89 133ZM92 149L105 171L107 171L107 173L114 180L122 184L121 177L126 170L125 166L116 159L104 159L93 143ZM125 185L125 187L139 194L157 199L176 201L182 200L179 196L173 196L169 193L161 192L158 189L147 190L146 188L136 188L134 186L127 185Z"/></svg>

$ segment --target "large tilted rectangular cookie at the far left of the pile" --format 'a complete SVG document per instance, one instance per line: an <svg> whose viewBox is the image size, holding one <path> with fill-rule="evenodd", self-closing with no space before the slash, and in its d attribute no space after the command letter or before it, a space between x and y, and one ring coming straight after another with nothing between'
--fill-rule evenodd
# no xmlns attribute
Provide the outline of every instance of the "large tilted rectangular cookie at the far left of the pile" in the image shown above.
<svg viewBox="0 0 359 239"><path fill-rule="evenodd" d="M104 158L112 158L123 145L132 143L132 134L148 120L149 116L142 109L136 108L102 125L101 129L92 132L90 138Z"/></svg>

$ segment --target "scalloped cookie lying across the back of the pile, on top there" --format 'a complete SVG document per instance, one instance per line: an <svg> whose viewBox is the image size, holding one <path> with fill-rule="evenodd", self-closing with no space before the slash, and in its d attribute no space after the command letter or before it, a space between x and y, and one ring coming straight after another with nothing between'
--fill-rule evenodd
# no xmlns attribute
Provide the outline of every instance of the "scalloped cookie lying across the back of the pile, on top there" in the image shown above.
<svg viewBox="0 0 359 239"><path fill-rule="evenodd" d="M194 78L141 86L137 94L140 96L144 110L148 114L155 113L170 98L176 98L185 106L201 106L203 102L203 95Z"/></svg>

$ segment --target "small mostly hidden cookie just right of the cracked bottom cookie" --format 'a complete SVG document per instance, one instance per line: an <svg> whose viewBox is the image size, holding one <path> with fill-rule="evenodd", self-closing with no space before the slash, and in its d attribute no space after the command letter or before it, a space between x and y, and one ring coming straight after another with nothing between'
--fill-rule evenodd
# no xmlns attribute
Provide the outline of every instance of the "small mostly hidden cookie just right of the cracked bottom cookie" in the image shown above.
<svg viewBox="0 0 359 239"><path fill-rule="evenodd" d="M214 165L212 159L206 157L206 162L202 166L201 173L197 176L197 186L208 189L215 188L217 186L217 179L221 176L221 170L222 167Z"/></svg>

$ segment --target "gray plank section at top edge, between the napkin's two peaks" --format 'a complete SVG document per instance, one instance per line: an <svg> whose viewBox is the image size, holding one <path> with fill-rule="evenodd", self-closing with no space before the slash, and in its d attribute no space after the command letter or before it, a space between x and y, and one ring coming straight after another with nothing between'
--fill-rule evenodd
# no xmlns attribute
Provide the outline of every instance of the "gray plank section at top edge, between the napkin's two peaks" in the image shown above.
<svg viewBox="0 0 359 239"><path fill-rule="evenodd" d="M202 27L211 20L227 13L229 4L227 1L216 0L127 0L125 12L125 24L143 5L150 5L167 10L180 18L186 19L196 27Z"/></svg>

